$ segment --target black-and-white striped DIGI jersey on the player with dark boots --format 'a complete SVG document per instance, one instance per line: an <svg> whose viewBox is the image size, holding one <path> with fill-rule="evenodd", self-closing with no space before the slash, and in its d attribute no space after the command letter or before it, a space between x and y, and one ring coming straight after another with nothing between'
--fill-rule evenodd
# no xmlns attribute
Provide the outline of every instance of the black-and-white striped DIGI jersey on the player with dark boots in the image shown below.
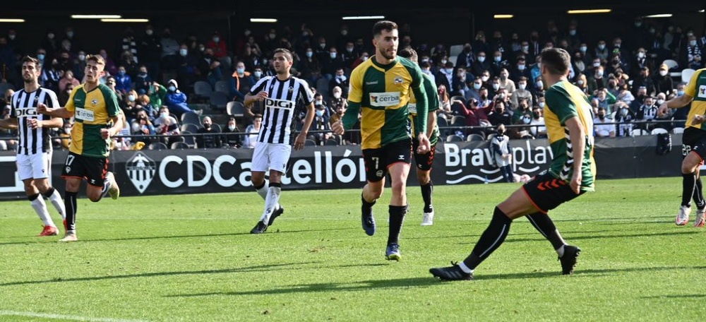
<svg viewBox="0 0 706 322"><path fill-rule="evenodd" d="M268 93L263 100L263 124L258 134L258 142L292 144L292 119L296 117L297 103L309 105L313 102L313 93L306 81L289 77L280 81L277 76L260 79L250 90L250 95L261 91Z"/></svg>

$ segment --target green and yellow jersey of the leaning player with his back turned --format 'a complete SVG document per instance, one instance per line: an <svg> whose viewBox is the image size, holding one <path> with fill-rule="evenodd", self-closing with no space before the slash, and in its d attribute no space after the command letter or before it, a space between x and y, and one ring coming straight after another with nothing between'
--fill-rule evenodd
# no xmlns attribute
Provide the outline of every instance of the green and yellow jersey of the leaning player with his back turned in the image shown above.
<svg viewBox="0 0 706 322"><path fill-rule="evenodd" d="M596 166L593 160L593 119L591 104L582 91L568 81L560 81L546 90L544 123L549 136L549 145L554 159L549 165L549 173L557 179L569 181L573 176L574 162L582 164L582 191L593 191ZM585 129L586 148L582 160L573 160L573 145L566 127L566 120L578 117Z"/></svg>

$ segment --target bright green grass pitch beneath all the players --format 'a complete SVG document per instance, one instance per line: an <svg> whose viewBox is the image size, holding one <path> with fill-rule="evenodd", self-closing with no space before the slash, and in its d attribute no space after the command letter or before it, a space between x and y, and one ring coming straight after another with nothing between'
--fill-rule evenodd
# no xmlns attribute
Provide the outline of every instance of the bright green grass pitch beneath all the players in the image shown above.
<svg viewBox="0 0 706 322"><path fill-rule="evenodd" d="M554 210L563 237L583 249L574 275L561 275L549 241L521 218L477 280L433 279L429 268L465 258L518 186L437 186L431 227L419 226L423 203L410 187L399 263L384 259L389 189L374 208L374 237L360 227L359 189L285 190L286 212L263 235L249 234L263 208L254 192L84 198L71 244L34 237L41 227L27 201L2 202L0 321L56 321L7 311L143 321L702 321L706 232L674 225L678 177L597 181L596 192Z"/></svg>

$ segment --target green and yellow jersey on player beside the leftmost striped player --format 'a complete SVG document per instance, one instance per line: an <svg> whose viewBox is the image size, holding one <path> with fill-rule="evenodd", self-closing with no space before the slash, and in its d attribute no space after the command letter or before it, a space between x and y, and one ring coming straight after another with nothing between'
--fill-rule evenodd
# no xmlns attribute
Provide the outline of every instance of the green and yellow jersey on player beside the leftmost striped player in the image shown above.
<svg viewBox="0 0 706 322"><path fill-rule="evenodd" d="M120 112L118 99L108 86L99 84L86 92L85 84L76 86L68 97L66 109L73 112L76 123L71 129L69 151L89 157L107 157L110 139L100 135L100 129L112 126L112 118Z"/></svg>

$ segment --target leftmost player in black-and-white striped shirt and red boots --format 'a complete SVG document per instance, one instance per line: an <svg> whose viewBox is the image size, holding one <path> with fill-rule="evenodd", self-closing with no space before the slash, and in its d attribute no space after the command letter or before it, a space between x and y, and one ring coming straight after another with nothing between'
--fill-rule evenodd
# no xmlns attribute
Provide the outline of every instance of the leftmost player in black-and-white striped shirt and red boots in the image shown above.
<svg viewBox="0 0 706 322"><path fill-rule="evenodd" d="M42 232L37 236L54 236L59 229L52 221L44 203L44 195L51 201L63 220L66 219L64 201L61 194L49 185L52 169L52 138L49 129L61 128L64 120L52 118L37 112L37 107L47 105L58 107L56 93L42 88L37 81L42 73L40 62L30 56L22 59L22 79L25 88L18 90L11 98L11 114L9 119L0 121L0 126L8 129L18 129L20 138L17 148L18 177L25 184L25 193L32 208L40 216L44 224Z"/></svg>

